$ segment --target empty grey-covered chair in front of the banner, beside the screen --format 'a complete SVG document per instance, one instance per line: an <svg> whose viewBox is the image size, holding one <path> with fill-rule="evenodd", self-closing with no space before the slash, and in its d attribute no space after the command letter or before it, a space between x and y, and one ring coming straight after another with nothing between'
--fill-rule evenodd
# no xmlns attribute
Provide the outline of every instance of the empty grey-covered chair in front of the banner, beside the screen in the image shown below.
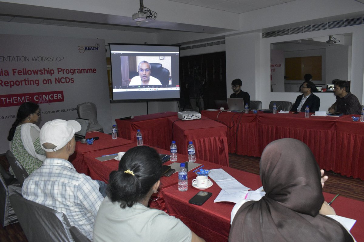
<svg viewBox="0 0 364 242"><path fill-rule="evenodd" d="M104 129L97 121L97 109L95 103L86 102L78 104L76 110L79 118L90 120L87 132L91 131L99 131L102 133L104 132Z"/></svg>

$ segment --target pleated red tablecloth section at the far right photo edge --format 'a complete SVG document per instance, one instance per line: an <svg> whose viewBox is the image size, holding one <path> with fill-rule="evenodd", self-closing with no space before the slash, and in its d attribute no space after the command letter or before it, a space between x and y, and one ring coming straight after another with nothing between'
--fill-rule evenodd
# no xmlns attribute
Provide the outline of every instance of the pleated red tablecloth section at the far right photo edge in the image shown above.
<svg viewBox="0 0 364 242"><path fill-rule="evenodd" d="M333 171L345 176L364 180L364 123L353 122L351 116L338 119L336 125L335 168ZM363 149L361 149L363 148Z"/></svg>

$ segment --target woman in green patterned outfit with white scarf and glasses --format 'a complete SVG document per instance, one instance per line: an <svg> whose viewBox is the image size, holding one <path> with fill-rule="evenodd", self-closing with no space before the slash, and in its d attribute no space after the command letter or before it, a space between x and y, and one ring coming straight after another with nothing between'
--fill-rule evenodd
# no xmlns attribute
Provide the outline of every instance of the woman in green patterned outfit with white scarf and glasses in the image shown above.
<svg viewBox="0 0 364 242"><path fill-rule="evenodd" d="M39 168L45 152L39 142L39 127L35 123L40 117L39 105L25 102L20 105L15 122L9 130L10 150L30 175Z"/></svg>

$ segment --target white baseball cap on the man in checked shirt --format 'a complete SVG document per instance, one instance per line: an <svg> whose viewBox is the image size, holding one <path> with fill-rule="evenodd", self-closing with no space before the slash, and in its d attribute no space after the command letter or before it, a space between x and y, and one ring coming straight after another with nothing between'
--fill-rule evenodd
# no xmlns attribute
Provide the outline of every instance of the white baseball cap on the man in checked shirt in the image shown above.
<svg viewBox="0 0 364 242"><path fill-rule="evenodd" d="M75 135L76 132L81 130L81 125L76 120L62 120L54 119L48 121L40 129L39 140L42 149L47 152L58 151L62 149ZM46 149L43 147L44 143L51 143L56 147L53 149Z"/></svg>

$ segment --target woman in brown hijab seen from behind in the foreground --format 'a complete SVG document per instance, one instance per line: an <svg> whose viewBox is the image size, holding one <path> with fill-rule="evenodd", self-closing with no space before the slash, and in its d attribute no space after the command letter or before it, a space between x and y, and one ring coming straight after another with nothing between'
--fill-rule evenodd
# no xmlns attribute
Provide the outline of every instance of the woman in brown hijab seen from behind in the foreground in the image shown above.
<svg viewBox="0 0 364 242"><path fill-rule="evenodd" d="M324 203L320 169L304 143L280 139L268 144L260 177L266 194L238 209L229 241L353 241L339 222L325 216L335 211Z"/></svg>

